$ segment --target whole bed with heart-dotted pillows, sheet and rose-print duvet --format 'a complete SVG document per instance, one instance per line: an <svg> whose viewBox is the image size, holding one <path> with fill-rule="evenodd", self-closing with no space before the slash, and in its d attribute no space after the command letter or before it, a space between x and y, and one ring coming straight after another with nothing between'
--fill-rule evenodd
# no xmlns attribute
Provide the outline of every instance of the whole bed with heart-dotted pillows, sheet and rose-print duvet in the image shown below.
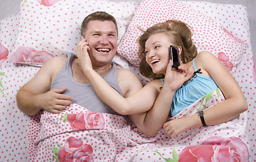
<svg viewBox="0 0 256 162"><path fill-rule="evenodd" d="M256 161L256 70L246 7L175 0L24 0L20 3L19 14L1 20L0 161L40 161L35 159L35 155L40 154L35 151L36 140L46 141L56 134L74 131L72 124L67 124L69 121L65 114L54 117L51 114L33 117L24 115L16 106L16 92L35 76L47 59L74 52L80 40L81 21L87 14L97 10L109 12L118 22L119 54L114 61L120 68L134 72L143 84L148 80L140 75L137 67L140 59L137 57L135 40L142 34L138 27L146 29L156 22L167 19L178 19L188 23L194 29L193 41L198 51L211 51L226 65L242 88L249 109L224 124L190 130L174 139L163 130L155 137L149 137L122 117L96 114L93 117L96 116L97 119L103 117L105 121L113 118L119 121L118 124L114 121L110 124L105 122L105 126L115 124L119 129L108 128L109 130L106 129L107 132L104 132L103 128L94 126L86 128L87 132L76 130L80 134L65 138L81 142L81 136L85 136L87 145L83 145L83 148L86 147L88 159L94 157L91 161L187 161L192 155L202 158L208 155L215 157L212 161L224 161L217 158L231 158L229 155L234 155L236 161ZM217 100L223 99L218 94L214 92L213 97L207 102L215 104ZM207 103L203 103L201 99L194 105L200 107ZM73 113L87 112L87 109L76 104L70 105L70 109ZM174 118L196 111L198 109L188 107L184 113ZM43 128L39 123L40 117L45 117L45 121L61 123L60 127L51 127L50 123L46 123L46 127ZM49 131L51 129L57 133L52 134ZM115 138L106 137L106 134L111 134ZM102 136L105 136L104 140ZM62 150L63 153L62 146L65 143L58 144L58 140L60 138L54 138L50 140L52 145L41 146L41 154L49 152L54 155L49 156L47 161L57 161L58 152ZM89 140L99 142L93 145ZM103 146L105 143L108 145ZM93 148L97 148L97 151Z"/></svg>

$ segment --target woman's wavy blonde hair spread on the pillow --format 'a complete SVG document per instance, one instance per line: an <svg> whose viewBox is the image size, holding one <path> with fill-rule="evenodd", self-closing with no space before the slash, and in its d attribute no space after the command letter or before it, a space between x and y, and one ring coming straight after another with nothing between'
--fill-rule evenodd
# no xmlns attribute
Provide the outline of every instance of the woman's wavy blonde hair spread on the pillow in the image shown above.
<svg viewBox="0 0 256 162"><path fill-rule="evenodd" d="M192 28L190 28L184 22L179 20L167 20L166 22L154 24L148 28L140 38L139 42L139 57L141 59L140 63L140 73L146 78L159 79L164 78L163 74L154 74L152 68L146 62L145 53L145 43L153 34L163 32L169 36L170 42L176 47L182 47L182 54L180 59L183 63L188 63L192 61L197 55L197 48L192 42Z"/></svg>

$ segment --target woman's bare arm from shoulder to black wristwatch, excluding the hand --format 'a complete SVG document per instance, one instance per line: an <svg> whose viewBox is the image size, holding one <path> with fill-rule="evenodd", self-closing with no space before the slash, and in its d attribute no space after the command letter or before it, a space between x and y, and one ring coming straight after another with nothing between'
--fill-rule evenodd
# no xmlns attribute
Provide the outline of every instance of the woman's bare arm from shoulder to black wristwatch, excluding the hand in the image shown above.
<svg viewBox="0 0 256 162"><path fill-rule="evenodd" d="M202 69L207 71L226 98L213 109L205 111L206 124L215 125L229 121L240 113L247 111L248 105L242 90L228 69L212 53L203 51L198 55L196 63L202 63Z"/></svg>

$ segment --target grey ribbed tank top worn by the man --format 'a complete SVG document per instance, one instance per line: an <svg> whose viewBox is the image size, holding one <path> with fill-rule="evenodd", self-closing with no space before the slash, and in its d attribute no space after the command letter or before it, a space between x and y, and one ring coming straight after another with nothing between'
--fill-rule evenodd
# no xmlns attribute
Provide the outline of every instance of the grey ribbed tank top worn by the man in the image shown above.
<svg viewBox="0 0 256 162"><path fill-rule="evenodd" d="M77 103L89 111L120 115L100 100L91 84L79 83L74 80L71 69L72 59L74 59L74 53L68 53L66 63L51 83L51 89L68 88L64 94L73 97L73 103ZM112 69L104 76L104 80L123 96L117 81L116 71L116 65L112 63Z"/></svg>

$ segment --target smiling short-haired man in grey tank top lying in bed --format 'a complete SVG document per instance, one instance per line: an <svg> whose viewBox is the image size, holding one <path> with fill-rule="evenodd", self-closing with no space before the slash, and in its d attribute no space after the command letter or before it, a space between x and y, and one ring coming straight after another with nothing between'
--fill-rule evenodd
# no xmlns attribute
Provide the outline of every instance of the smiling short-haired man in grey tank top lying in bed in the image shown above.
<svg viewBox="0 0 256 162"><path fill-rule="evenodd" d="M140 90L140 80L129 70L117 69L112 59L117 49L116 20L109 14L97 11L83 20L80 50L87 50L93 70L108 84L123 95L129 97ZM79 52L79 48L76 53ZM81 52L81 51L80 51ZM35 115L42 109L51 113L60 113L70 103L77 103L90 111L120 115L98 98L81 63L73 53L67 57L54 57L45 63L39 72L17 93L18 108L26 115ZM154 99L149 99L148 107Z"/></svg>

